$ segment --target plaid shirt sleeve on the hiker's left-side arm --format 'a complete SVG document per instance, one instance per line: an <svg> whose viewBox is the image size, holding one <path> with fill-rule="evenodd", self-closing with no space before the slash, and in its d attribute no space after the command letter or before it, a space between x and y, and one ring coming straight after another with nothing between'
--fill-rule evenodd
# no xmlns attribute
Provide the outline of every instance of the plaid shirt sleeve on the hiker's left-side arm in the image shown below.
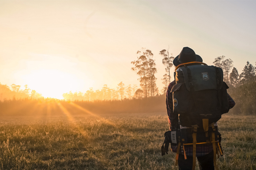
<svg viewBox="0 0 256 170"><path fill-rule="evenodd" d="M175 130L176 126L178 125L178 115L173 114L173 99L171 90L174 84L175 81L171 82L166 91L166 109L168 114L169 129L171 131Z"/></svg>

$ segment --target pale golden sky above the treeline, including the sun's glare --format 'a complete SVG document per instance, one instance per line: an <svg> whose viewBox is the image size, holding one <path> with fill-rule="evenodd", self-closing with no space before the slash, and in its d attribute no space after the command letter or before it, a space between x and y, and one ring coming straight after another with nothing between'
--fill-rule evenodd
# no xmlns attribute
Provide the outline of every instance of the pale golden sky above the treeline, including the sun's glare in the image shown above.
<svg viewBox="0 0 256 170"><path fill-rule="evenodd" d="M256 1L0 1L0 83L44 97L104 84L139 86L131 61L142 48L177 56L185 46L204 63L226 56L241 73L256 62ZM173 68L174 69L174 68Z"/></svg>

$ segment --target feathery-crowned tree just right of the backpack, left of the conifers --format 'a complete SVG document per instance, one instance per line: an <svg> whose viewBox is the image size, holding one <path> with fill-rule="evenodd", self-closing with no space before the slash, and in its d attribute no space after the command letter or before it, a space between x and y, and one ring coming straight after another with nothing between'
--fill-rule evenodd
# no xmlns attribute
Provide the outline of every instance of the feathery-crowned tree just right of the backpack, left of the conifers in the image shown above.
<svg viewBox="0 0 256 170"><path fill-rule="evenodd" d="M225 56L220 56L214 59L213 64L223 70L223 80L229 82L229 72L233 67L233 61L229 58L224 60Z"/></svg>

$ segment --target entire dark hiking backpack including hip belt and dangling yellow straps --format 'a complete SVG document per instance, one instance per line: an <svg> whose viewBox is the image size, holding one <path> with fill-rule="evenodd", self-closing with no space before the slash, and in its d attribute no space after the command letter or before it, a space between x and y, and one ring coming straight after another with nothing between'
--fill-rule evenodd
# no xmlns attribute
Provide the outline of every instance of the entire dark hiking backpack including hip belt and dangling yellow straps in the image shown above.
<svg viewBox="0 0 256 170"><path fill-rule="evenodd" d="M183 149L185 145L193 145L193 169L195 169L196 145L212 143L214 166L217 169L216 147L218 146L221 155L222 149L220 133L214 124L223 113L229 111L228 86L223 82L223 71L219 67L191 62L178 65L174 77L176 84L171 90L173 113L178 115L181 130L166 132L165 143L168 143L169 138L169 143L173 143L176 136L178 144L176 160L181 145ZM174 132L176 135L173 135ZM162 155L166 149L162 146ZM186 156L185 149L184 156Z"/></svg>

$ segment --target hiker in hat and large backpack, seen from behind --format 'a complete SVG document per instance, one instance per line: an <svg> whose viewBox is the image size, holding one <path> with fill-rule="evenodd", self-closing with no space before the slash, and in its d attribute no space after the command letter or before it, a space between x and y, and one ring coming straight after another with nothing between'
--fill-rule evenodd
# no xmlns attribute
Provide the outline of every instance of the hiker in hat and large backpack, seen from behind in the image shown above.
<svg viewBox="0 0 256 170"><path fill-rule="evenodd" d="M180 170L195 169L195 157L201 170L214 170L216 152L222 154L217 121L235 105L226 92L222 69L202 62L184 47L173 60L175 80L166 92L169 129L180 134L171 144Z"/></svg>

